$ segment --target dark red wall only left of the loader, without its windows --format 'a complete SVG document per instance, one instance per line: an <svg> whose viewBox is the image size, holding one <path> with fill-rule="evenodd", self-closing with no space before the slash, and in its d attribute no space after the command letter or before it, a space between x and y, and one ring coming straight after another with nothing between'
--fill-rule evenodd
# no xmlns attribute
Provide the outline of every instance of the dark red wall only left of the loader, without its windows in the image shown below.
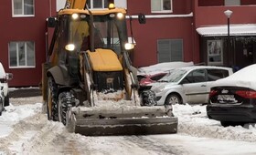
<svg viewBox="0 0 256 155"><path fill-rule="evenodd" d="M2 15L0 47L0 61L5 67L5 72L14 74L10 80L10 87L38 86L41 80L41 64L46 59L45 30L46 18L52 14L49 1L35 0L35 16L12 17L12 1L3 1L0 6L5 13ZM51 4L54 5L54 4ZM34 41L36 67L34 68L10 68L8 58L8 44L11 41Z"/></svg>

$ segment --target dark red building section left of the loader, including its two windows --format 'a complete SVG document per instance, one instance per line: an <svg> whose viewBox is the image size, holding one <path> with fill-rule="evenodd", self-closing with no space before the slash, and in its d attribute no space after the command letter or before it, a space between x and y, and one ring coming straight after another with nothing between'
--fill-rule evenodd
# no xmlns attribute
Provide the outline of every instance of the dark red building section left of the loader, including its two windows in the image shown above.
<svg viewBox="0 0 256 155"><path fill-rule="evenodd" d="M38 86L46 59L46 19L56 13L54 6L53 1L2 1L0 61L14 74L10 87Z"/></svg>

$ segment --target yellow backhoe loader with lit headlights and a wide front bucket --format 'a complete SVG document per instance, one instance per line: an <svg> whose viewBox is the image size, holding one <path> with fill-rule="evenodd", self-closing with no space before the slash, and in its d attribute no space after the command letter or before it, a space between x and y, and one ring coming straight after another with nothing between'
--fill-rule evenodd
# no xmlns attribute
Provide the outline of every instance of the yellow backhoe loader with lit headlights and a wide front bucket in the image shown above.
<svg viewBox="0 0 256 155"><path fill-rule="evenodd" d="M48 119L82 135L176 133L171 107L143 106L129 58L126 11L68 0L56 17L42 66Z"/></svg>

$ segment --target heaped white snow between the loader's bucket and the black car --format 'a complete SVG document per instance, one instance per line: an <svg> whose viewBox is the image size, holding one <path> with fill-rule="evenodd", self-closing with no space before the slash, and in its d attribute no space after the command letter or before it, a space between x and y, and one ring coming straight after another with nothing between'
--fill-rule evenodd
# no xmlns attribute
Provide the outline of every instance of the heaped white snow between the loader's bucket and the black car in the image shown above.
<svg viewBox="0 0 256 155"><path fill-rule="evenodd" d="M256 140L255 124L224 128L219 121L208 119L206 106L174 105L173 109L175 116L178 117L179 133L221 140Z"/></svg>

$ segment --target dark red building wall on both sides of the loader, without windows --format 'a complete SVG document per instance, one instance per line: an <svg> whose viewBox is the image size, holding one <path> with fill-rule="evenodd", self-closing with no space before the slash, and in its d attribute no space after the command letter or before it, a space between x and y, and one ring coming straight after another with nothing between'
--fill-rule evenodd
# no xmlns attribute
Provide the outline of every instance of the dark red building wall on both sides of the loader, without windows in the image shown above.
<svg viewBox="0 0 256 155"><path fill-rule="evenodd" d="M119 2L127 6L127 15L146 15L144 25L139 24L137 17L132 20L133 36L136 41L133 51L135 67L157 63L157 39L183 39L184 61L203 61L204 51L199 48L202 38L198 36L196 29L199 26L226 25L227 17L224 11L227 9L233 11L230 24L256 23L255 0L241 0L240 6L224 6L224 0L173 0L173 12L165 14L151 13L151 0ZM5 13L2 15L0 29L0 61L6 72L14 74L10 87L38 86L41 80L41 64L46 60L46 19L48 16L56 15L59 8L56 0L35 0L35 16L32 17L12 17L12 0L3 1L0 7L2 13ZM161 15L169 16L160 17ZM131 36L129 19L127 24ZM35 68L9 67L10 41L35 41Z"/></svg>

